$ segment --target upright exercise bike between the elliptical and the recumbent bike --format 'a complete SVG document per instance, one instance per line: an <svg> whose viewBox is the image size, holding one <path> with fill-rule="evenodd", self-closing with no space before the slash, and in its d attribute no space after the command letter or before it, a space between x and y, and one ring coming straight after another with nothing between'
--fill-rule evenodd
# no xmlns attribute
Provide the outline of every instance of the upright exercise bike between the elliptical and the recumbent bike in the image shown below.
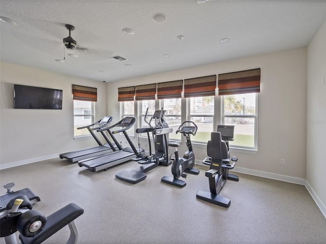
<svg viewBox="0 0 326 244"><path fill-rule="evenodd" d="M186 123L191 123L193 126L185 126ZM181 133L186 138L186 145L188 150L184 153L183 158L179 158L178 147L180 146L179 142L169 143L169 146L175 147L174 155L175 159L172 163L171 171L173 177L171 176L163 176L161 178L162 182L165 182L169 185L176 186L176 187L185 187L186 182L179 179L180 176L186 178L186 173L191 174L199 174L198 169L194 169L195 165L195 155L193 151L192 141L190 139L190 135L196 135L197 132L197 125L193 121L184 121L176 131L176 134Z"/></svg>

